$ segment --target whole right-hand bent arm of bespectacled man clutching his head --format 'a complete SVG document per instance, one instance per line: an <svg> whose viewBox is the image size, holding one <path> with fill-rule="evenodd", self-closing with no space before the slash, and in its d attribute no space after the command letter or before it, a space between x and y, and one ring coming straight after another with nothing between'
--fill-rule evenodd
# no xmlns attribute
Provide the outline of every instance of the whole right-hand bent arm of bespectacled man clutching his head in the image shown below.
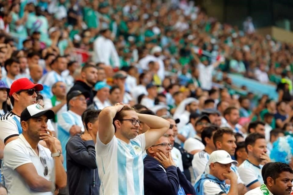
<svg viewBox="0 0 293 195"><path fill-rule="evenodd" d="M150 129L145 133L146 148L152 146L156 141L168 131L170 122L154 115L137 114L141 122L147 124Z"/></svg>

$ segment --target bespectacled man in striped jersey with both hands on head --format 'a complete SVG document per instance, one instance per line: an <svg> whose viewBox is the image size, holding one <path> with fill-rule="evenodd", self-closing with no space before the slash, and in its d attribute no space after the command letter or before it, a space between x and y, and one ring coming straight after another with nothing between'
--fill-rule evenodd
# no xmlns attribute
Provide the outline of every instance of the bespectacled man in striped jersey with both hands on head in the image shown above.
<svg viewBox="0 0 293 195"><path fill-rule="evenodd" d="M150 129L138 135L139 121ZM167 120L136 113L130 105L118 103L104 108L99 114L96 141L100 194L142 195L142 153L154 145L169 127Z"/></svg>

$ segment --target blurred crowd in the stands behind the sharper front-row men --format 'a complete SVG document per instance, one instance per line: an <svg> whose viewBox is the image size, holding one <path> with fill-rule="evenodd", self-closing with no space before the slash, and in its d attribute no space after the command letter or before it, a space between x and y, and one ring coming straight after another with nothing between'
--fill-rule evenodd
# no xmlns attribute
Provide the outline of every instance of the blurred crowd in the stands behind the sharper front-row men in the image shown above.
<svg viewBox="0 0 293 195"><path fill-rule="evenodd" d="M44 86L37 102L56 113L63 154L68 109L81 116L118 102L180 119L175 141L187 152L202 115L240 137L264 134L270 150L272 129L293 133L293 44L257 34L251 17L241 28L221 23L194 1L1 1L0 66L1 89L19 78ZM89 93L86 105L69 104L74 90ZM12 106L2 92L4 115Z"/></svg>

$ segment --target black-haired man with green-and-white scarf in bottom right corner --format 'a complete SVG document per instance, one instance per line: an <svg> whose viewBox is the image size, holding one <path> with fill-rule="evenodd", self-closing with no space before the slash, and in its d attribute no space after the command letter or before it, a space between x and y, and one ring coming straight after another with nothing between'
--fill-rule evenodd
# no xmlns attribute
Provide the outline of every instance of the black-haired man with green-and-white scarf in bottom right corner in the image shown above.
<svg viewBox="0 0 293 195"><path fill-rule="evenodd" d="M281 162L268 165L264 174L264 184L245 195L290 195L292 190L293 170Z"/></svg>

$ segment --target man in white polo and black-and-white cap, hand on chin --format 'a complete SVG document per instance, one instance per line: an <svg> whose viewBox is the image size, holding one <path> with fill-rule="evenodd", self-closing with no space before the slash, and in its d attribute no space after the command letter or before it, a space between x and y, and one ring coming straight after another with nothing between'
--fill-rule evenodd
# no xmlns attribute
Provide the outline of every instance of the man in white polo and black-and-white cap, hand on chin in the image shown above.
<svg viewBox="0 0 293 195"><path fill-rule="evenodd" d="M66 186L62 166L52 132L47 129L52 110L39 104L24 109L20 115L22 134L4 149L3 174L8 194L53 194ZM43 140L48 148L39 144Z"/></svg>

